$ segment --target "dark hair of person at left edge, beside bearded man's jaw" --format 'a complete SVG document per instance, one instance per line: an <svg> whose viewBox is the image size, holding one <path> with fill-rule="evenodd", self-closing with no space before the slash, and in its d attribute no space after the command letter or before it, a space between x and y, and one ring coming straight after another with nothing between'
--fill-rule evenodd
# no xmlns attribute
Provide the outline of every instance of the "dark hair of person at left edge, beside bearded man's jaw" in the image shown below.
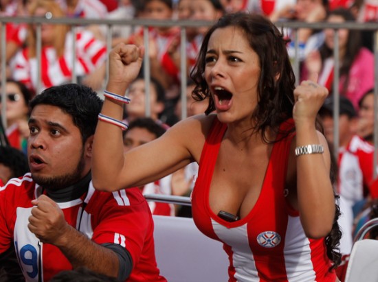
<svg viewBox="0 0 378 282"><path fill-rule="evenodd" d="M10 178L20 177L30 172L25 154L10 146L0 146L0 163L11 170Z"/></svg>

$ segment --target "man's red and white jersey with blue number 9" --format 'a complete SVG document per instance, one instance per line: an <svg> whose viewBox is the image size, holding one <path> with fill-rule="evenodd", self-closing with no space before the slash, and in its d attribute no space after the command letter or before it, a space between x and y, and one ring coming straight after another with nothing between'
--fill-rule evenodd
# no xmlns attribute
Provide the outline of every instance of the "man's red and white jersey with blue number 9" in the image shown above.
<svg viewBox="0 0 378 282"><path fill-rule="evenodd" d="M56 246L39 242L27 228L31 201L41 190L30 173L0 188L0 254L14 241L27 282L49 281L72 268ZM90 183L85 198L58 205L68 224L93 242L120 244L130 252L133 270L127 281L166 281L156 265L151 211L139 189L107 193L96 191Z"/></svg>

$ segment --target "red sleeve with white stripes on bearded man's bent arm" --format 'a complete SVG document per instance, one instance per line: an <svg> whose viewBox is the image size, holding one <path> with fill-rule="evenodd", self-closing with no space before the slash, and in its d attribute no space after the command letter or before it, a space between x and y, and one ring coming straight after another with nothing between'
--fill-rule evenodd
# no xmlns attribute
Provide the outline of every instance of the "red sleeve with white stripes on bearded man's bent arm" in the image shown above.
<svg viewBox="0 0 378 282"><path fill-rule="evenodd" d="M153 232L153 222L148 204L144 201L131 203L129 193L132 191L129 190L112 193L112 199L102 208L92 239L98 244L120 244L130 252L135 266L146 237Z"/></svg>

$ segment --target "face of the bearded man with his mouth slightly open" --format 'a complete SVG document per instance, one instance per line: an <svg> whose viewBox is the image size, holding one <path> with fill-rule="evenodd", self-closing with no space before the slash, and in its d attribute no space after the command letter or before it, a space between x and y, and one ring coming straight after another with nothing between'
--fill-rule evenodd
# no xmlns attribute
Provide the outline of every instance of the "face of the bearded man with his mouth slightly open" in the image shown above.
<svg viewBox="0 0 378 282"><path fill-rule="evenodd" d="M80 130L71 115L56 106L38 105L29 119L27 156L33 180L58 190L76 183L89 172Z"/></svg>

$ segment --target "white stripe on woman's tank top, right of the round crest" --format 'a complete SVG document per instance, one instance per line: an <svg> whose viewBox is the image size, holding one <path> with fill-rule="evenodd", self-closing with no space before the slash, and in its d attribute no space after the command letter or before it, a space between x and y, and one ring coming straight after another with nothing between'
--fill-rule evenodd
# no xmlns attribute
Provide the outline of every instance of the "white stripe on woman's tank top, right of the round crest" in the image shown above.
<svg viewBox="0 0 378 282"><path fill-rule="evenodd" d="M298 232L299 230L302 232ZM284 255L287 280L289 282L315 281L316 276L311 261L310 242L304 235L299 217L288 216ZM298 264L301 266L300 269ZM292 277L290 274L296 274L296 277Z"/></svg>

